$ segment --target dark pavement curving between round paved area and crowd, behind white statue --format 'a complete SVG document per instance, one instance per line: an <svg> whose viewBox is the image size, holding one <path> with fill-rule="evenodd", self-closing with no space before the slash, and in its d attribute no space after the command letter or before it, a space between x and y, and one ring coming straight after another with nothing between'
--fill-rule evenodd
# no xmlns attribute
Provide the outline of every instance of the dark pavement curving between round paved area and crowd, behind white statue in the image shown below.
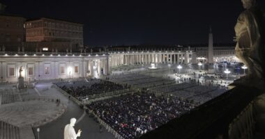
<svg viewBox="0 0 265 139"><path fill-rule="evenodd" d="M66 104L67 111L59 119L40 126L40 138L41 139L61 139L63 138L63 129L66 124L70 122L71 117L75 117L77 120L82 117L81 120L75 124L75 131L82 130L81 137L78 139L112 139L114 136L112 133L108 133L105 129L103 133L99 133L99 124L93 120L89 115L84 115L84 110L79 108L73 101L68 100L68 97L64 96L56 90L51 88L52 83L38 83L36 88L41 96L54 97L61 100L61 103ZM47 89L48 88L48 89ZM37 93L36 93L37 94ZM35 129L36 131L36 129Z"/></svg>

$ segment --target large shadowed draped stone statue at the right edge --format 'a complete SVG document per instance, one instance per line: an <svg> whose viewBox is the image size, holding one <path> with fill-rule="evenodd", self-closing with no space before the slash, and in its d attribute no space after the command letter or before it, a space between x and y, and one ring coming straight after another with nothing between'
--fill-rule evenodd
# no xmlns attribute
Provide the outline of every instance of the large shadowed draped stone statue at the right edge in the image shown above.
<svg viewBox="0 0 265 139"><path fill-rule="evenodd" d="M247 67L245 81L264 81L264 13L257 7L256 0L241 0L243 11L235 26L236 57ZM243 82L245 82L243 81Z"/></svg>

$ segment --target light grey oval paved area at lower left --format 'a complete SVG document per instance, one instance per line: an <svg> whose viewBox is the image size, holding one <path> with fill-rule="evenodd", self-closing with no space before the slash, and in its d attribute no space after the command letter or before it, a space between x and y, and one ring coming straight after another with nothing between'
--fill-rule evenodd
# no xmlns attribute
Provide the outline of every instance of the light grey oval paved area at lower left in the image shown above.
<svg viewBox="0 0 265 139"><path fill-rule="evenodd" d="M0 120L18 127L39 126L55 120L65 110L55 101L18 101L0 107Z"/></svg>

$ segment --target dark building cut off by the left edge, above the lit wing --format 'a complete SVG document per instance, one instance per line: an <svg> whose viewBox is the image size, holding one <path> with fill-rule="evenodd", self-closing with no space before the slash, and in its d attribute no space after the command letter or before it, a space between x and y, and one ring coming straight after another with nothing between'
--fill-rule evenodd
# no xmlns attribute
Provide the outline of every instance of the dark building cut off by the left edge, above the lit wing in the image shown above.
<svg viewBox="0 0 265 139"><path fill-rule="evenodd" d="M13 50L22 46L22 42L25 42L25 21L24 17L17 15L0 15L1 47L8 47Z"/></svg>

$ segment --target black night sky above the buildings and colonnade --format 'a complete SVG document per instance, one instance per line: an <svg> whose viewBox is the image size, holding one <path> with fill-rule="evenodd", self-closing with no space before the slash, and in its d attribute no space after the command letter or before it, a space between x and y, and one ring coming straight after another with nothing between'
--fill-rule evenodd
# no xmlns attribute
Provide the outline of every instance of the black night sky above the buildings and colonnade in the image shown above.
<svg viewBox="0 0 265 139"><path fill-rule="evenodd" d="M0 0L7 13L84 23L84 44L199 44L232 42L241 0ZM265 1L259 1L265 8Z"/></svg>

